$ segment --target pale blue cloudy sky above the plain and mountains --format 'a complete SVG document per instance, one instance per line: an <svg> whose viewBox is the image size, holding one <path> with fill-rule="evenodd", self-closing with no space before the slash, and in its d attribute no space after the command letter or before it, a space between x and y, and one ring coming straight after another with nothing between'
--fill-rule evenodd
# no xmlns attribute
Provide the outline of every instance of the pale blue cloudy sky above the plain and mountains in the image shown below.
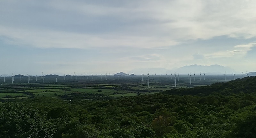
<svg viewBox="0 0 256 138"><path fill-rule="evenodd" d="M255 53L255 0L0 1L0 74L250 72Z"/></svg>

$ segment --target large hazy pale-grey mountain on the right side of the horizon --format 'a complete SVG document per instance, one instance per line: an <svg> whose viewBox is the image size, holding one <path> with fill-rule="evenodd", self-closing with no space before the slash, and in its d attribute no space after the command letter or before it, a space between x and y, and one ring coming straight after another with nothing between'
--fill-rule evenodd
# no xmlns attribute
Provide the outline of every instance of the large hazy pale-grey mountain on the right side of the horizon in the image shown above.
<svg viewBox="0 0 256 138"><path fill-rule="evenodd" d="M207 73L207 74L223 74L223 72L231 73L233 69L229 67L224 67L220 65L211 65L211 66L203 66L203 65L189 65L183 66L181 68L173 70L176 73L184 74L184 73Z"/></svg>

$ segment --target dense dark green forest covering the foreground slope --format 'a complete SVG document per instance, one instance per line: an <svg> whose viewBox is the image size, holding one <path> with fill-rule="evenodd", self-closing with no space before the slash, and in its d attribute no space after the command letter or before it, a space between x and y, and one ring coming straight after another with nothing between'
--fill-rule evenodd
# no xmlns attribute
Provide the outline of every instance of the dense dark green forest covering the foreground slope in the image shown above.
<svg viewBox="0 0 256 138"><path fill-rule="evenodd" d="M255 138L256 77L105 100L0 104L1 138Z"/></svg>

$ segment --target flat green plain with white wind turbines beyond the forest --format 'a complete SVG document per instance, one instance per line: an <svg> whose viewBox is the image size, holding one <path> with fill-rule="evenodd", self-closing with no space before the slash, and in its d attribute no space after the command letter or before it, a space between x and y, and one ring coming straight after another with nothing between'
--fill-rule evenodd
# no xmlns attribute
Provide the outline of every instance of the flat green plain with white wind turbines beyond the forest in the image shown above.
<svg viewBox="0 0 256 138"><path fill-rule="evenodd" d="M59 75L45 75L42 72L42 76L31 76L28 73L27 75L10 75L10 76L1 76L0 77L0 91L2 92L2 98L6 97L9 93L4 92L4 89L10 89L11 93L20 94L24 91L15 91L12 87L16 86L19 88L27 89L28 91L33 91L35 96L42 96L42 95L65 95L67 91L64 89L57 89L59 86L61 87L78 87L78 89L72 89L69 93L99 93L96 91L97 89L108 91L108 94L105 96L137 96L143 94L154 94L163 92L166 90L171 89L179 89L179 88L192 88L197 86L206 86L211 85L213 83L225 83L228 81L233 81L234 79L241 79L243 77L249 77L250 73L246 72L246 76L242 73L240 75L235 75L235 71L228 74L224 72L221 75L207 75L207 73L203 73L204 78L202 79L202 73L196 74L194 73L193 79L192 74L176 74L175 72L174 77L172 77L172 73L166 73L166 77L162 77L162 73L153 74L152 76L149 75L149 71L147 73L147 79L143 79L144 74L135 75L135 74L125 74L123 72L119 72L113 75L107 76L105 74L105 78L102 75L98 76L95 75L92 77L88 77L88 74L81 74L81 76L73 74L64 74L64 76ZM100 73L102 74L102 73ZM235 78L236 76L236 78ZM66 78L71 79L66 79ZM20 80L20 81L15 81ZM32 89L28 89L28 87L32 87ZM48 87L49 86L49 87ZM86 87L85 87L86 86ZM125 87L124 87L125 86ZM116 88L120 88L116 89ZM44 90L44 92L42 92ZM75 91L76 90L76 91ZM40 91L37 93L37 91ZM94 92L93 92L94 91ZM112 91L112 92L109 92ZM56 94L56 95L54 95ZM27 98L31 95L20 95L21 98ZM16 98L19 96L16 95ZM12 97L11 97L12 98Z"/></svg>

